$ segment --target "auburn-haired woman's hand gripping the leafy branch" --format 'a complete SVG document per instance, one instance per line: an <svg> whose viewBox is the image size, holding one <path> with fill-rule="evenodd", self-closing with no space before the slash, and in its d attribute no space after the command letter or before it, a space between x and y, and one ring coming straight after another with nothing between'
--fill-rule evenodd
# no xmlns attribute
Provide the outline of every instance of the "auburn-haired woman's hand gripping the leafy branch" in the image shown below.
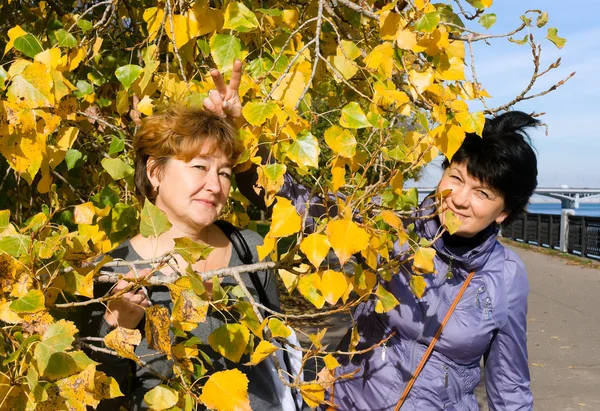
<svg viewBox="0 0 600 411"><path fill-rule="evenodd" d="M146 268L140 270L139 277L143 278L150 274L150 269ZM126 278L135 278L135 275L130 271L125 276ZM120 280L115 288L113 294L130 286L131 283L128 281ZM144 318L146 308L150 307L152 303L146 293L144 287L140 287L137 290L129 291L121 296L118 300L112 300L108 302L108 309L104 313L104 320L111 326L120 326L124 328L134 329Z"/></svg>

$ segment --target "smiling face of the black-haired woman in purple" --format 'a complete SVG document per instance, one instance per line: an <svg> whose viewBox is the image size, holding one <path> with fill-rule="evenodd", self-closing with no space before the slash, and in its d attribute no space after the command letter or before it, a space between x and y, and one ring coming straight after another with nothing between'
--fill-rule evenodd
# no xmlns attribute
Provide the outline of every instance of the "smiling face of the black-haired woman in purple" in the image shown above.
<svg viewBox="0 0 600 411"><path fill-rule="evenodd" d="M440 220L443 224L444 211L454 212L462 223L456 232L461 237L473 237L508 215L502 195L472 177L464 164L452 163L444 171L437 192L444 190L452 193L443 200Z"/></svg>

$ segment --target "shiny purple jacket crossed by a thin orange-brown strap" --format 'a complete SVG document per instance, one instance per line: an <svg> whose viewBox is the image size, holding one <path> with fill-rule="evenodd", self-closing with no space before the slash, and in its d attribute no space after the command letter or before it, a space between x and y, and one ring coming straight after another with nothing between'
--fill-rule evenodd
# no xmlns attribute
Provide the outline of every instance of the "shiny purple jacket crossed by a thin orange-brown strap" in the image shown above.
<svg viewBox="0 0 600 411"><path fill-rule="evenodd" d="M298 208L306 204L302 187L286 181L280 195ZM312 210L311 210L312 211ZM432 239L437 218L417 220L415 230ZM479 410L473 391L485 359L485 384L490 410L528 411L533 408L527 360L527 274L519 257L497 241L490 226L474 244L451 247L439 239L437 274L425 275L427 289L418 299L410 290L410 263L382 285L400 301L393 310L377 314L375 302L361 304L354 314L360 333L358 349L379 343L395 331L385 346L340 358L337 375L359 371L335 385L339 410L393 410L404 387L435 335L440 321L468 273L475 271L402 410ZM400 252L396 247L396 252ZM447 273L451 276L447 276ZM342 341L347 346L349 336Z"/></svg>

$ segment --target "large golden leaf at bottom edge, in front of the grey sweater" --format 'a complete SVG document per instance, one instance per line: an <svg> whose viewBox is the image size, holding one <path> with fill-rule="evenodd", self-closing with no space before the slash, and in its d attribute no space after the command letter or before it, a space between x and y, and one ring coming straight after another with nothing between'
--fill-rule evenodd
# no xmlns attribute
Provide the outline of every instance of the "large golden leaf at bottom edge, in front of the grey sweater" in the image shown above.
<svg viewBox="0 0 600 411"><path fill-rule="evenodd" d="M202 387L200 400L216 411L252 411L248 398L248 378L236 369L211 375Z"/></svg>

